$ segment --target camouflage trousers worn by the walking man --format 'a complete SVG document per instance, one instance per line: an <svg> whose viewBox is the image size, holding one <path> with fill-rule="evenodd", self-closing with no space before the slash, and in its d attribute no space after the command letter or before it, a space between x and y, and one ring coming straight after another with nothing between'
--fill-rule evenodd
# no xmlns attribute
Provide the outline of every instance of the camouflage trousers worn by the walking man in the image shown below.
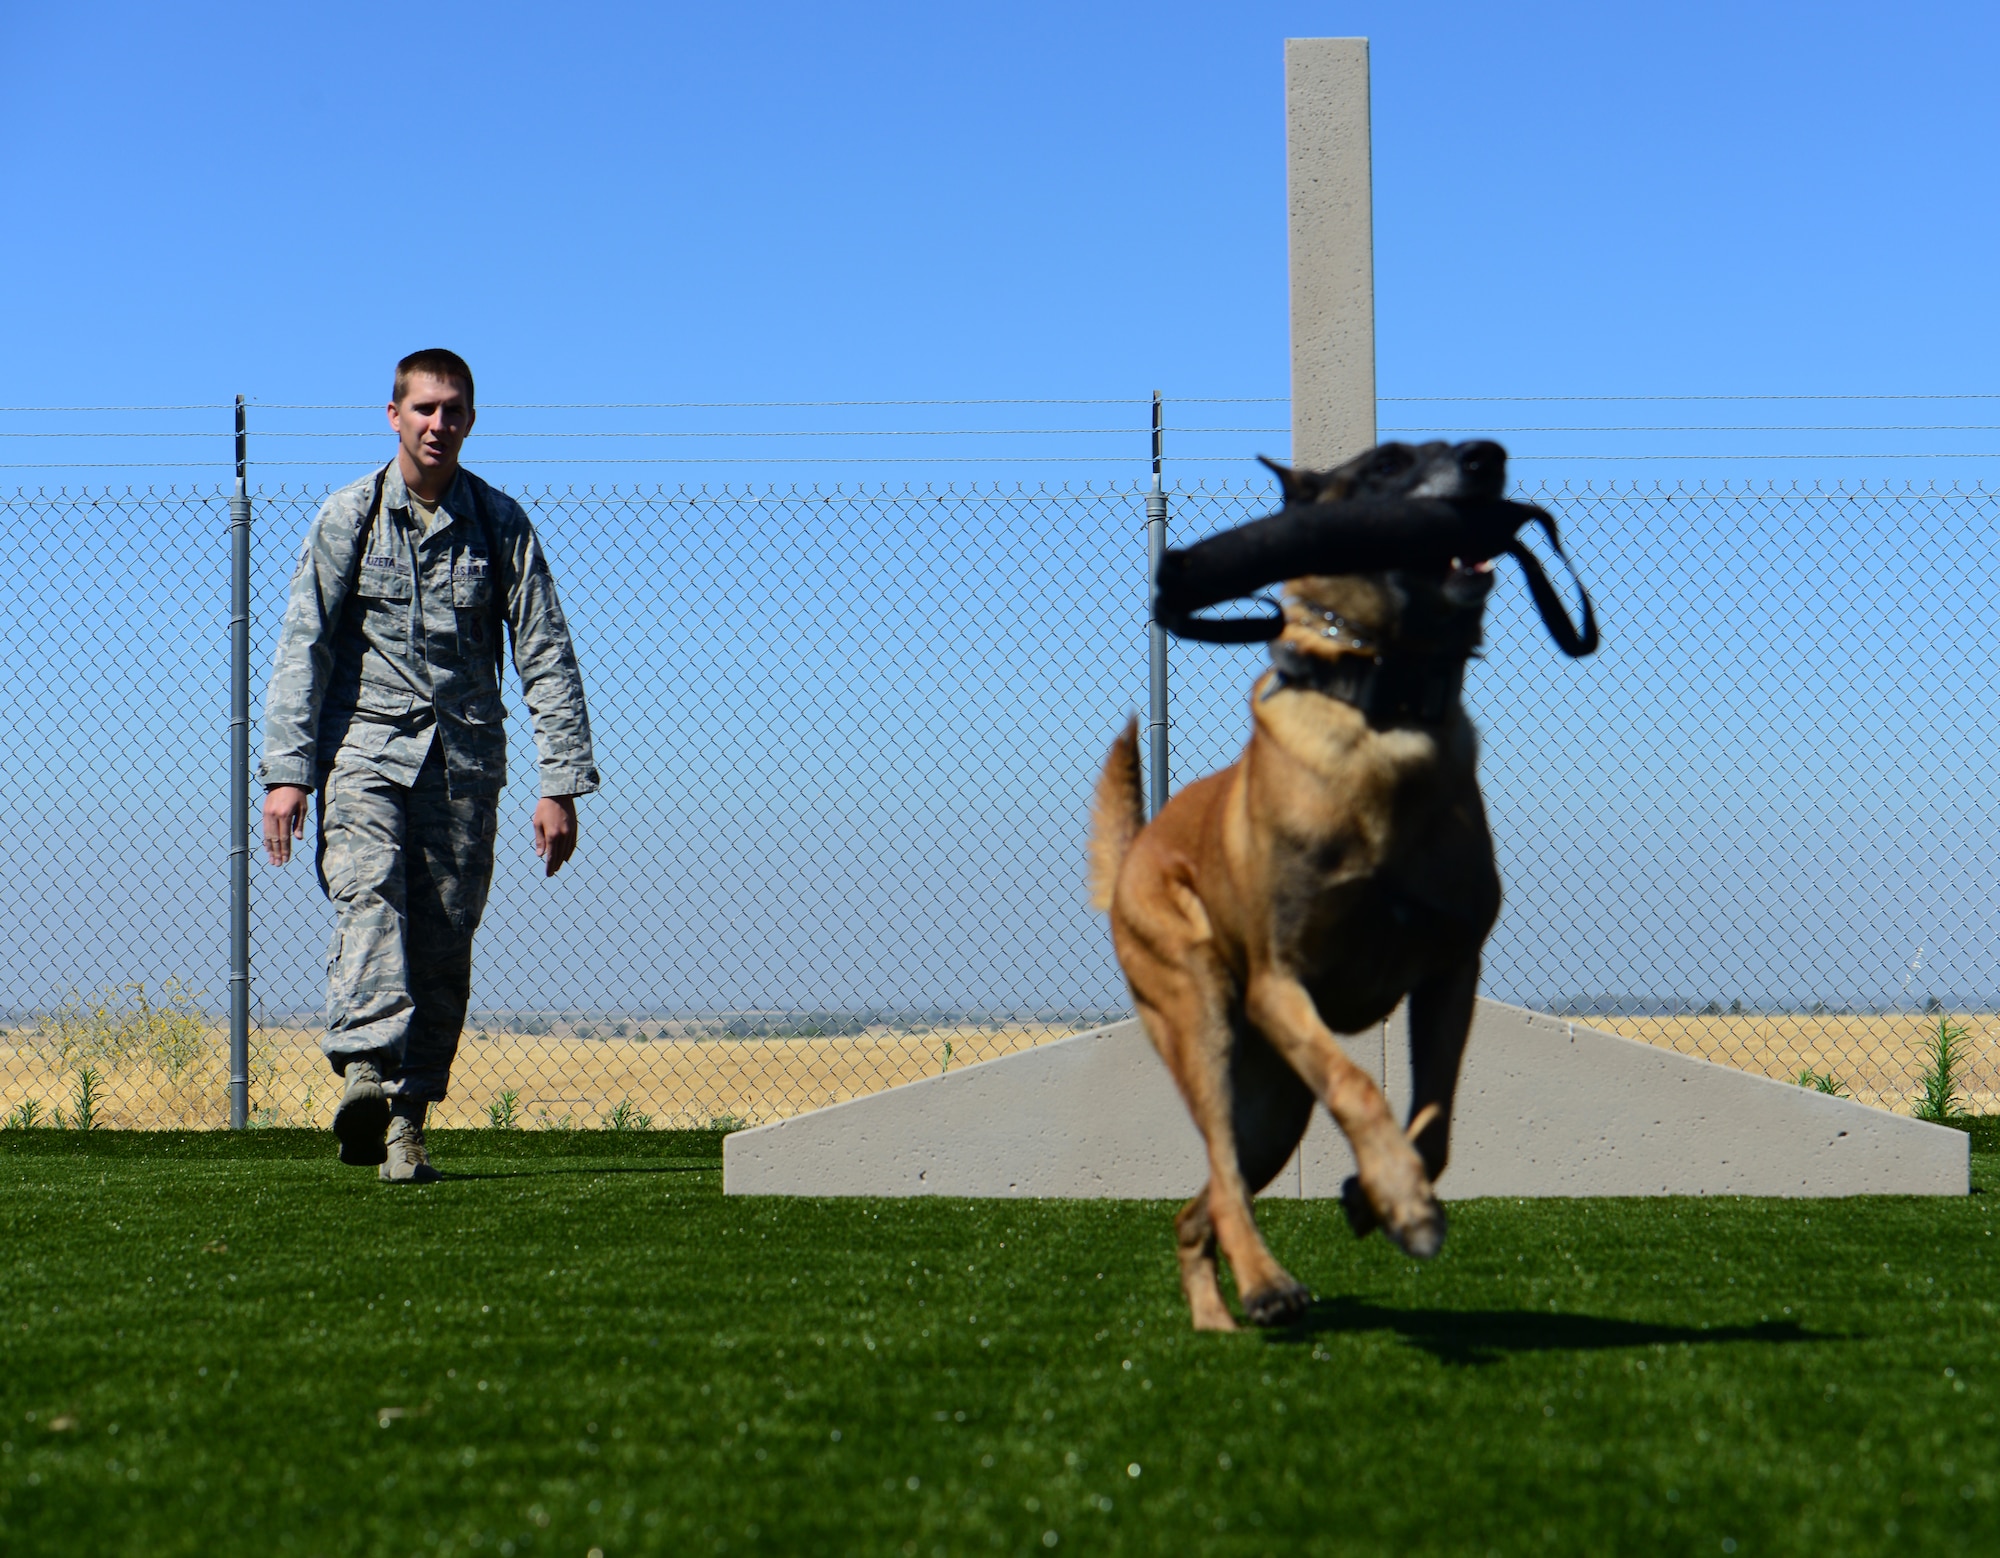
<svg viewBox="0 0 2000 1558"><path fill-rule="evenodd" d="M492 796L452 800L434 744L402 786L342 768L320 788L320 890L334 904L326 1038L336 1074L372 1060L390 1092L440 1102L472 996L472 932L494 876Z"/></svg>

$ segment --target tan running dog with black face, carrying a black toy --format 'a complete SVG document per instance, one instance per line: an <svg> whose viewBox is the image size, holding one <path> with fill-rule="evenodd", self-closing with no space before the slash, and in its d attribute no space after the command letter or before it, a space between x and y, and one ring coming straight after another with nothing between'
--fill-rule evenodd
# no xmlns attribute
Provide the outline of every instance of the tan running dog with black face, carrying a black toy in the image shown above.
<svg viewBox="0 0 2000 1558"><path fill-rule="evenodd" d="M1380 532L1394 504L1494 512L1506 452L1384 444L1324 474L1272 470L1286 516L1310 522L1314 506L1346 504ZM1426 566L1292 578L1282 624L1270 618L1272 668L1250 690L1244 754L1150 824L1136 724L1098 778L1092 900L1110 912L1138 1014L1208 1144L1208 1184L1176 1218L1198 1330L1236 1328L1218 1242L1252 1322L1280 1324L1306 1306L1250 1198L1292 1156L1316 1100L1354 1148L1358 1174L1342 1196L1354 1230L1380 1226L1418 1258L1444 1242L1432 1186L1480 948L1500 912L1476 736L1460 706L1494 580L1486 558L1498 550L1482 546ZM1546 580L1534 582L1540 604ZM1584 630L1588 652L1588 602ZM1382 1022L1404 998L1414 1094L1398 1128L1334 1034Z"/></svg>

